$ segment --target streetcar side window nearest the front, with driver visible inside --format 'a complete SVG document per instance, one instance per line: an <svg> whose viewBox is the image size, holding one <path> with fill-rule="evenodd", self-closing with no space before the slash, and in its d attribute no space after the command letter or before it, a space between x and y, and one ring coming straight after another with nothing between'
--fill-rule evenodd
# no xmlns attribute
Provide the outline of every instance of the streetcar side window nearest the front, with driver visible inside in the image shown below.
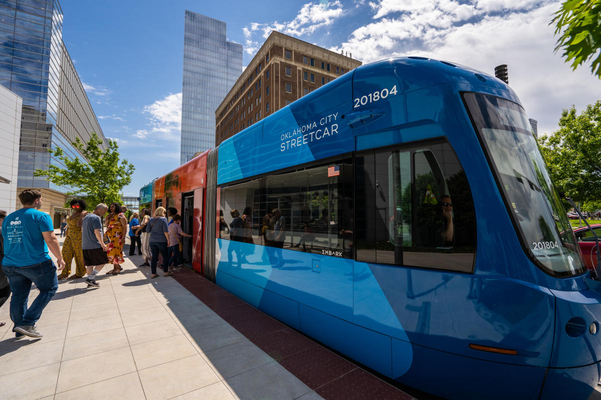
<svg viewBox="0 0 601 400"><path fill-rule="evenodd" d="M355 193L357 260L472 271L474 205L448 143L357 157Z"/></svg>

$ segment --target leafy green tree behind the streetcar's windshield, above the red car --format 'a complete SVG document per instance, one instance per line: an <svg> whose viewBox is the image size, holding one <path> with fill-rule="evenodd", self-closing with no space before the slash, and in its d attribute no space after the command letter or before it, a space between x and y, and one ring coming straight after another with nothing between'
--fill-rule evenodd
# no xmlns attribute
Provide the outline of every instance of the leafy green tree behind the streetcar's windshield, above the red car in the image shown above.
<svg viewBox="0 0 601 400"><path fill-rule="evenodd" d="M601 100L581 115L564 109L559 126L538 139L555 187L579 203L601 199Z"/></svg>

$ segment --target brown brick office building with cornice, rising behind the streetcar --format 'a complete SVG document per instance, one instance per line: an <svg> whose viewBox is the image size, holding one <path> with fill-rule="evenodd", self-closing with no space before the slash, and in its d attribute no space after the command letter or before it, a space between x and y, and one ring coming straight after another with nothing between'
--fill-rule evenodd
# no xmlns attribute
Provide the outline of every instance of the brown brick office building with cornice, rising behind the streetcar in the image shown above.
<svg viewBox="0 0 601 400"><path fill-rule="evenodd" d="M215 111L215 146L361 65L273 31Z"/></svg>

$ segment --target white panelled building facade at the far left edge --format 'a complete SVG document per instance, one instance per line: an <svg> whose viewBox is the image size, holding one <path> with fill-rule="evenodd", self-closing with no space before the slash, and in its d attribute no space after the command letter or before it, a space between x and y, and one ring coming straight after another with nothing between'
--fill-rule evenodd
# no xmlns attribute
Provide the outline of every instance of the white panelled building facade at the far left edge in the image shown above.
<svg viewBox="0 0 601 400"><path fill-rule="evenodd" d="M0 86L0 210L8 213L17 201L22 106L22 98Z"/></svg>

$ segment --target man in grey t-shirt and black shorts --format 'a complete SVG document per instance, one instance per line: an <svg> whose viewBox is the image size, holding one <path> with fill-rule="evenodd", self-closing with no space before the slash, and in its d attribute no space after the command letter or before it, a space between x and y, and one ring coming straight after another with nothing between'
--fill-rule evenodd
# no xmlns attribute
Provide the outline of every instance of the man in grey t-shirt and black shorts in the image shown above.
<svg viewBox="0 0 601 400"><path fill-rule="evenodd" d="M84 252L84 265L88 278L85 282L88 287L100 287L96 282L96 275L108 264L106 245L102 240L102 221L100 216L105 215L109 207L100 203L94 212L88 213L81 224L81 248Z"/></svg>

